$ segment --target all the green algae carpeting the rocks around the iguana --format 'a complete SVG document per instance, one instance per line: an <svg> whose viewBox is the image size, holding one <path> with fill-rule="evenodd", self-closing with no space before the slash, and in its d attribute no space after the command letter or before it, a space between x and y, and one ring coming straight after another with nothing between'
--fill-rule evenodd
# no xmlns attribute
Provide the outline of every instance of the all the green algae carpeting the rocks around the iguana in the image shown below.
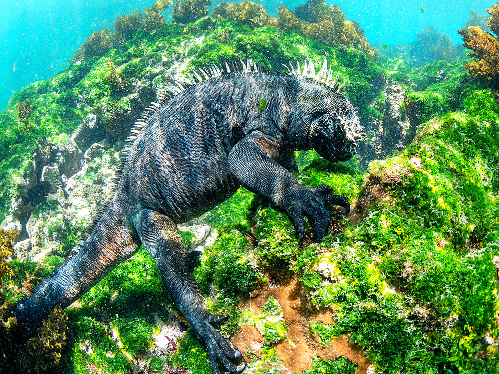
<svg viewBox="0 0 499 374"><path fill-rule="evenodd" d="M226 334L236 332L244 321L237 297L248 296L268 282L264 271L284 264L307 287L313 304L334 307L335 323L314 322L311 333L319 334L323 344L349 334L377 372L497 373L497 347L484 341L486 336L499 338L497 269L492 261L499 255L496 94L470 85L462 63L437 62L418 69L400 60L377 65L359 51L326 47L293 31L271 26L251 30L235 21L208 18L186 27L189 34L173 23L154 35L139 30L119 50L71 65L50 80L16 93L0 114L0 130L6 139L0 148L0 188L5 201L1 214L8 210L15 189L8 181L20 178L36 141L70 133L81 122L84 110L74 107L78 95L85 95L89 105L101 102L127 108L107 79L110 60L127 79L149 75L160 83L167 78L151 65L162 58L173 62L176 54L184 52L192 57L188 67L250 57L269 68L286 60L307 57L317 62L327 57L361 113L372 109L378 118L381 113L367 109L373 101L378 106L383 103L381 90L375 86L385 76L404 88L413 82L418 91L409 89L406 102L416 107L423 125L417 141L399 155L371 163L363 175L354 164L328 164L314 152L297 154L300 173L295 176L306 186L327 183L334 193L346 194L353 201L369 193L362 187L366 181L377 179L388 198L359 207L365 215L361 221L341 221L341 232L303 249L285 214L241 189L208 215L208 222L222 229L216 243L206 248L196 280L205 295L212 291L215 300L207 296L210 311L231 315L229 327L224 327ZM200 43L183 49L182 43L201 36ZM448 79L438 81L439 74ZM13 108L25 98L35 105L35 111L27 125L21 125ZM407 104L404 107L409 109ZM9 150L10 146L14 148ZM421 161L421 168L411 163L414 158ZM91 161L85 178L91 179L100 167L98 160ZM36 213L46 208L40 204ZM250 227L254 244L244 236ZM49 231L60 229L54 224ZM73 236L71 243L77 235ZM186 244L192 237L183 234ZM69 246L69 242L64 244L66 249ZM327 260L324 253L329 254ZM46 260L55 266L61 261L60 257ZM327 266L320 270L324 261ZM20 275L24 266L30 272L36 267L19 261L11 264ZM43 278L49 272L45 267L37 276ZM147 351L157 329L154 313L162 313L165 303L171 307L154 261L143 249L80 303L68 310L72 340L63 358L75 373L88 373L91 365L103 373L128 373L131 363L125 353L137 356ZM278 306L269 298L263 314L278 315ZM110 338L111 329L118 332L122 349ZM277 362L272 344L285 331L282 321L262 323L265 360ZM211 373L205 348L191 330L178 353L166 362L195 374ZM162 365L159 359L151 367L160 371ZM305 373L353 372L353 364L338 358L314 360L312 370Z"/></svg>

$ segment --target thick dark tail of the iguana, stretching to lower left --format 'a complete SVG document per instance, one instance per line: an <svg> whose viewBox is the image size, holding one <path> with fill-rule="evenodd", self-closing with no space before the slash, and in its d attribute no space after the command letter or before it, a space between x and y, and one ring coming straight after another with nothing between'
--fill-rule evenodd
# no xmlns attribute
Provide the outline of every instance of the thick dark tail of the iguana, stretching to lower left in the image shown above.
<svg viewBox="0 0 499 374"><path fill-rule="evenodd" d="M135 230L120 204L111 203L78 252L57 268L31 295L20 299L13 315L32 333L56 306L68 307L139 249Z"/></svg>

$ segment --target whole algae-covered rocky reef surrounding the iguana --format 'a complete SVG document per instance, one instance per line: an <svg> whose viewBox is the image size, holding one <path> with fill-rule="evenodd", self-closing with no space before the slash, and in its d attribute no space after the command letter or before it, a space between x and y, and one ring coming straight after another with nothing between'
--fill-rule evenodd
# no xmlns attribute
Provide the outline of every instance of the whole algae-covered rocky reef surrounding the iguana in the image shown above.
<svg viewBox="0 0 499 374"><path fill-rule="evenodd" d="M194 272L208 308L230 316L222 331L248 373L498 373L498 94L464 62L376 61L342 14L308 1L272 18L245 1L189 24L151 15L154 30L124 16L85 58L16 92L0 113L0 313L70 254L132 123L183 71L327 58L367 135L346 163L296 153L295 177L331 185L352 211L335 213L322 243L308 226L298 243L283 213L240 189L181 227L203 251ZM356 41L321 34L338 27ZM8 337L15 321L0 319ZM211 373L143 249L31 346L18 363L33 373Z"/></svg>

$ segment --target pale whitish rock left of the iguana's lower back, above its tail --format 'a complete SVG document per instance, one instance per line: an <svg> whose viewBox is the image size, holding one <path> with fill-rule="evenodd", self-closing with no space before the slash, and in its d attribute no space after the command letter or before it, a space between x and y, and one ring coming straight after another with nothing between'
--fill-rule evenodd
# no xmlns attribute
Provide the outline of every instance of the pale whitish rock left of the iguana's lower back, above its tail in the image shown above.
<svg viewBox="0 0 499 374"><path fill-rule="evenodd" d="M57 166L43 168L39 185L44 186L46 201L40 202L27 219L29 244L23 244L26 249L20 258L39 261L48 254L65 256L76 245L112 185L118 152L104 150L100 144L87 150L85 164L67 180L65 190Z"/></svg>

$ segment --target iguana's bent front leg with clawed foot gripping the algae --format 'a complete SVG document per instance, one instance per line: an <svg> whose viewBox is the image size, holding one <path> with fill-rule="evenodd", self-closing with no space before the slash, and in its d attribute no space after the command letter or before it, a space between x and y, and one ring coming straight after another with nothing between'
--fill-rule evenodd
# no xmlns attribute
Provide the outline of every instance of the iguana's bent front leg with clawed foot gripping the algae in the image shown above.
<svg viewBox="0 0 499 374"><path fill-rule="evenodd" d="M321 241L327 233L330 211L326 204L339 205L347 214L350 204L344 196L332 194L332 187L319 185L308 188L272 159L278 152L271 149L272 141L256 132L239 141L228 158L229 170L241 186L268 198L274 207L284 211L294 224L299 238L303 237L305 221L312 219L314 241Z"/></svg>

